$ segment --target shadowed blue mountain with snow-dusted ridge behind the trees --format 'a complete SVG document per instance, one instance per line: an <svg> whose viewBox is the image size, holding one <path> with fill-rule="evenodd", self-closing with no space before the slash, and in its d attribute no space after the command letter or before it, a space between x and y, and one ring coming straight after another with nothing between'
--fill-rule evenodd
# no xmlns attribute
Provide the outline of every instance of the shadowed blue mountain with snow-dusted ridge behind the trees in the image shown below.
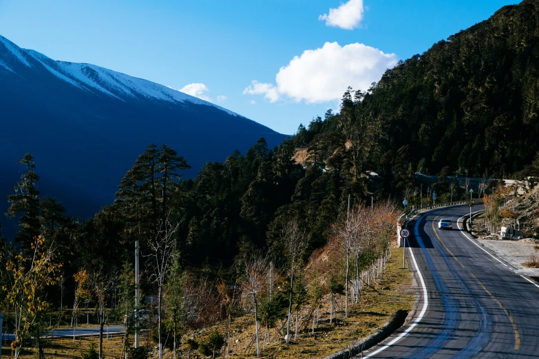
<svg viewBox="0 0 539 359"><path fill-rule="evenodd" d="M207 161L286 137L227 109L95 65L54 61L0 36L0 211L32 153L43 195L89 217L114 199L147 144L166 143L193 176ZM6 220L1 220L6 224Z"/></svg>

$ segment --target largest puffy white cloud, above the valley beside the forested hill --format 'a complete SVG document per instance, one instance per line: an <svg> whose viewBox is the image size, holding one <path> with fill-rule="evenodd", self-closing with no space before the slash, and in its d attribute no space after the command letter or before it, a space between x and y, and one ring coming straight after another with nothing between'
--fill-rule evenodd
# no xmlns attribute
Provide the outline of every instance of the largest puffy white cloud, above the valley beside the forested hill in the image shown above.
<svg viewBox="0 0 539 359"><path fill-rule="evenodd" d="M275 76L277 85L253 81L243 93L264 94L270 102L284 97L308 103L340 100L348 86L366 91L396 64L397 55L361 43L325 43L281 67Z"/></svg>

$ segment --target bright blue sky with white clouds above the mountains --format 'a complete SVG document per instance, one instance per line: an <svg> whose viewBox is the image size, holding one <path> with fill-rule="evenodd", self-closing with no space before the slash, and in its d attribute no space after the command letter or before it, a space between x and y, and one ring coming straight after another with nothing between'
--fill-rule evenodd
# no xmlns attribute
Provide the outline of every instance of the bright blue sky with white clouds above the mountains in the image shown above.
<svg viewBox="0 0 539 359"><path fill-rule="evenodd" d="M397 60L514 3L0 0L0 34L55 60L184 89L291 134L338 111L348 85L366 89Z"/></svg>

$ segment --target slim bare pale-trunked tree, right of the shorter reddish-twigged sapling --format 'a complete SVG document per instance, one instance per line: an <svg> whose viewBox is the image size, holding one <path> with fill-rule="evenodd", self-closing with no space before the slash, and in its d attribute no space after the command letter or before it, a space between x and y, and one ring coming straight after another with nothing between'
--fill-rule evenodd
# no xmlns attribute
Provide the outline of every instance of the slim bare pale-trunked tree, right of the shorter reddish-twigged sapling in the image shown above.
<svg viewBox="0 0 539 359"><path fill-rule="evenodd" d="M294 270L305 245L305 231L299 228L296 219L292 219L281 232L284 243L284 254L290 265L290 301L288 305L288 318L286 323L286 345L290 343L290 320L292 318L292 296L294 292Z"/></svg>

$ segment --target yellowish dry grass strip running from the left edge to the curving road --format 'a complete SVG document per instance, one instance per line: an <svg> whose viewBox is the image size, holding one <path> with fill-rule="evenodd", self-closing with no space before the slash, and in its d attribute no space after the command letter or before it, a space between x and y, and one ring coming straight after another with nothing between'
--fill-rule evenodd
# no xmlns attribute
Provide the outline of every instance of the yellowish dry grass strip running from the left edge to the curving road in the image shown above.
<svg viewBox="0 0 539 359"><path fill-rule="evenodd" d="M379 279L377 285L364 287L361 303L349 309L349 317L343 320L343 314L337 314L335 320L329 324L328 314L320 312L320 323L315 329L315 336L310 334L309 329L303 329L297 336L297 341L290 342L287 347L282 335L277 329L271 330L271 342L262 350L262 358L321 358L330 353L345 349L353 342L366 338L374 333L379 327L390 320L392 314L399 309L410 310L414 303L414 290L412 288L412 276L408 269L403 270L402 250L393 250L393 258L388 261L388 270ZM302 319L299 323L302 323ZM312 322L311 322L312 323ZM254 318L242 316L232 321L230 355L233 358L255 358L256 343L254 338ZM182 338L195 338L197 341L204 340L212 331L224 333L226 324L220 323L200 331L193 331ZM264 328L261 329L260 338L264 337ZM103 340L106 358L120 358L122 353L121 337L112 337ZM48 358L81 358L83 350L88 349L92 342L98 343L98 338L83 338L73 342L72 339L54 339L45 344L45 356ZM154 343L149 338L142 338L144 345L149 345L153 351L153 358L157 358ZM11 349L3 347L4 358L10 357ZM262 349L262 342L261 342ZM21 358L37 358L36 349L28 349ZM172 353L165 349L165 358L172 358ZM187 358L187 347L181 346L179 358ZM200 353L191 353L191 358L202 358Z"/></svg>

